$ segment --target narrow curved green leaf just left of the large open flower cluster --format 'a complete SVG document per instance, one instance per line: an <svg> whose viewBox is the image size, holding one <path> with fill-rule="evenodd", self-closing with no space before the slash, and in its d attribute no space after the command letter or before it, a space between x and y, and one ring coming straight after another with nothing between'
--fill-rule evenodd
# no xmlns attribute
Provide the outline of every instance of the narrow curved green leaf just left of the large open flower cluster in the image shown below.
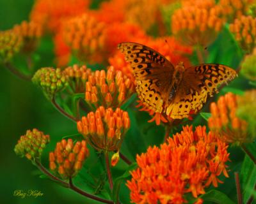
<svg viewBox="0 0 256 204"><path fill-rule="evenodd" d="M130 171L134 170L135 168L137 168L137 163L132 163L127 170L125 171L125 173L116 178L115 182L114 182L114 186L113 186L113 201L116 203L118 201L118 195L119 195L119 191L120 191L120 186L122 184L122 182L124 182L125 179L127 179L128 177L130 177Z"/></svg>

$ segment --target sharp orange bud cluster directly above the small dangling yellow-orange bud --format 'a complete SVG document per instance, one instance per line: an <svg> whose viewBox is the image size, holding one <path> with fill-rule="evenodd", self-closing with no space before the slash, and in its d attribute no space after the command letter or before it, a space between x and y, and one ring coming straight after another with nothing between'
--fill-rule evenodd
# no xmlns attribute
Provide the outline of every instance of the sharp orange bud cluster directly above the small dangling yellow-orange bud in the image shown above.
<svg viewBox="0 0 256 204"><path fill-rule="evenodd" d="M118 151L129 128L130 119L127 112L120 108L116 108L114 112L112 108L105 109L103 106L77 122L79 133L99 151Z"/></svg>

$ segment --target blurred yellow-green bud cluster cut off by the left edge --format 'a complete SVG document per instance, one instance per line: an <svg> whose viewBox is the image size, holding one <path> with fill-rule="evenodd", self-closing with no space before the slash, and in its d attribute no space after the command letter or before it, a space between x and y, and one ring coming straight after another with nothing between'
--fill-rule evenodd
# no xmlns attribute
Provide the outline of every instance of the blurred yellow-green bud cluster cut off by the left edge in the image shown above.
<svg viewBox="0 0 256 204"><path fill-rule="evenodd" d="M0 62L7 62L17 54L22 47L21 36L12 30L0 31Z"/></svg>

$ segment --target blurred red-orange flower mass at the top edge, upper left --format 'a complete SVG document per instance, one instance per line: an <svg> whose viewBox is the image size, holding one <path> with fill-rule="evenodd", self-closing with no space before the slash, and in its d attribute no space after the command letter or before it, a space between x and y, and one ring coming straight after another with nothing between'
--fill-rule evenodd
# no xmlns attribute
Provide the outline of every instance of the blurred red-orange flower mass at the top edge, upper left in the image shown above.
<svg viewBox="0 0 256 204"><path fill-rule="evenodd" d="M61 22L81 15L88 10L88 6L90 0L36 0L30 18L44 29L56 32Z"/></svg>

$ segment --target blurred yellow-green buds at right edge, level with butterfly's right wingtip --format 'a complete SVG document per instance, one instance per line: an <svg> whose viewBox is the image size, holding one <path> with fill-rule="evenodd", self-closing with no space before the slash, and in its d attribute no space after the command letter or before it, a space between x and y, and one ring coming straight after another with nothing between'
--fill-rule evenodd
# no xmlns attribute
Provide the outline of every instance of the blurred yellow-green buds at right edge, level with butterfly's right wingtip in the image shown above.
<svg viewBox="0 0 256 204"><path fill-rule="evenodd" d="M254 48L252 54L244 57L240 73L249 80L256 80L256 48Z"/></svg>

